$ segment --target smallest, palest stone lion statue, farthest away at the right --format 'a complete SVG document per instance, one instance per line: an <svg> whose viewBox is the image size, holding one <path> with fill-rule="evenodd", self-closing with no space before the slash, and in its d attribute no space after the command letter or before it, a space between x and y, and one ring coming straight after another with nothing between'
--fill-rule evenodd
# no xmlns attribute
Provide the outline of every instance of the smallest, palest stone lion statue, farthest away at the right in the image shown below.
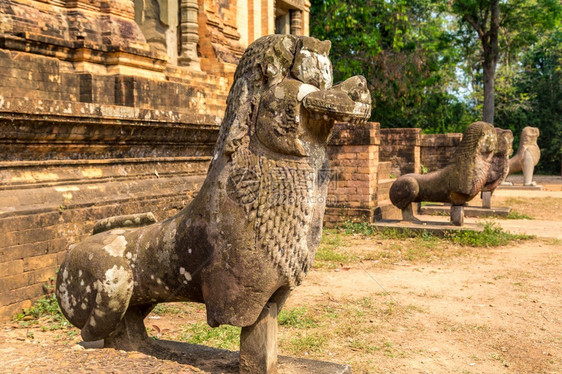
<svg viewBox="0 0 562 374"><path fill-rule="evenodd" d="M537 144L539 129L527 126L521 132L519 148L515 156L509 159L509 174L523 171L523 185L534 186L533 172L541 158L541 150Z"/></svg>

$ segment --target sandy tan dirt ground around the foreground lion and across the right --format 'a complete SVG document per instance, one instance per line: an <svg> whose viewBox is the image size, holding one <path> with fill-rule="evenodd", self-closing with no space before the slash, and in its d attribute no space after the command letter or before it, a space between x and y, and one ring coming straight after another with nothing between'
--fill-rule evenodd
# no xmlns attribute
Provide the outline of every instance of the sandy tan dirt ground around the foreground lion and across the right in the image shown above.
<svg viewBox="0 0 562 374"><path fill-rule="evenodd" d="M319 263L294 291L284 309L302 315L300 322L280 327L280 353L347 363L354 373L562 372L558 179L531 196L512 190L494 194L494 205L510 203L536 218L499 224L525 232L549 222L548 232L555 235L548 238L494 248L428 247L427 256L385 262L386 254L400 253L406 244L346 236L335 250L356 260L344 256L340 265ZM382 248L384 256L365 255ZM204 320L200 307L178 304L153 313L147 326L158 338L178 339L186 326ZM0 326L0 371L201 372L137 352L85 349L77 344L76 329L44 329L20 322Z"/></svg>

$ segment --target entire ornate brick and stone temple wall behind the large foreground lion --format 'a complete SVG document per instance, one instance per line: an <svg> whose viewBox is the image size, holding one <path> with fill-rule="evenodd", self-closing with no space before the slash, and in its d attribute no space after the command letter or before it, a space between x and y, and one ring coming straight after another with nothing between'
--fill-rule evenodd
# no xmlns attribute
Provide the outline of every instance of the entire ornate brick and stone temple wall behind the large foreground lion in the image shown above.
<svg viewBox="0 0 562 374"><path fill-rule="evenodd" d="M272 0L0 2L0 319L97 220L191 201L238 59L275 16Z"/></svg>

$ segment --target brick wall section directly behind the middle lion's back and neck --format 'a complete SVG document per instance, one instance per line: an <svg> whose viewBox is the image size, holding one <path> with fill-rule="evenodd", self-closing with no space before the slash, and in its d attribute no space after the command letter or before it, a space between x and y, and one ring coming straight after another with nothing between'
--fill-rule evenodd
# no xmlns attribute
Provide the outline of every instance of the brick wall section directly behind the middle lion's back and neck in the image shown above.
<svg viewBox="0 0 562 374"><path fill-rule="evenodd" d="M428 171L445 167L461 140L461 133L424 134L421 142L421 164Z"/></svg>

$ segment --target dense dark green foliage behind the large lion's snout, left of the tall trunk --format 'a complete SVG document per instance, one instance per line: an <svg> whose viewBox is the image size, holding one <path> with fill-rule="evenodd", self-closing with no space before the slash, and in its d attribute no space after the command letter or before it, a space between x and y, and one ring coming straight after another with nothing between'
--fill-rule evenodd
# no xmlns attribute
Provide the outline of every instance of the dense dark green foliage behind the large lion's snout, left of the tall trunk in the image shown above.
<svg viewBox="0 0 562 374"><path fill-rule="evenodd" d="M433 0L312 0L311 35L332 41L336 81L367 78L382 126L462 131L471 113L449 92L460 55L438 13Z"/></svg>

